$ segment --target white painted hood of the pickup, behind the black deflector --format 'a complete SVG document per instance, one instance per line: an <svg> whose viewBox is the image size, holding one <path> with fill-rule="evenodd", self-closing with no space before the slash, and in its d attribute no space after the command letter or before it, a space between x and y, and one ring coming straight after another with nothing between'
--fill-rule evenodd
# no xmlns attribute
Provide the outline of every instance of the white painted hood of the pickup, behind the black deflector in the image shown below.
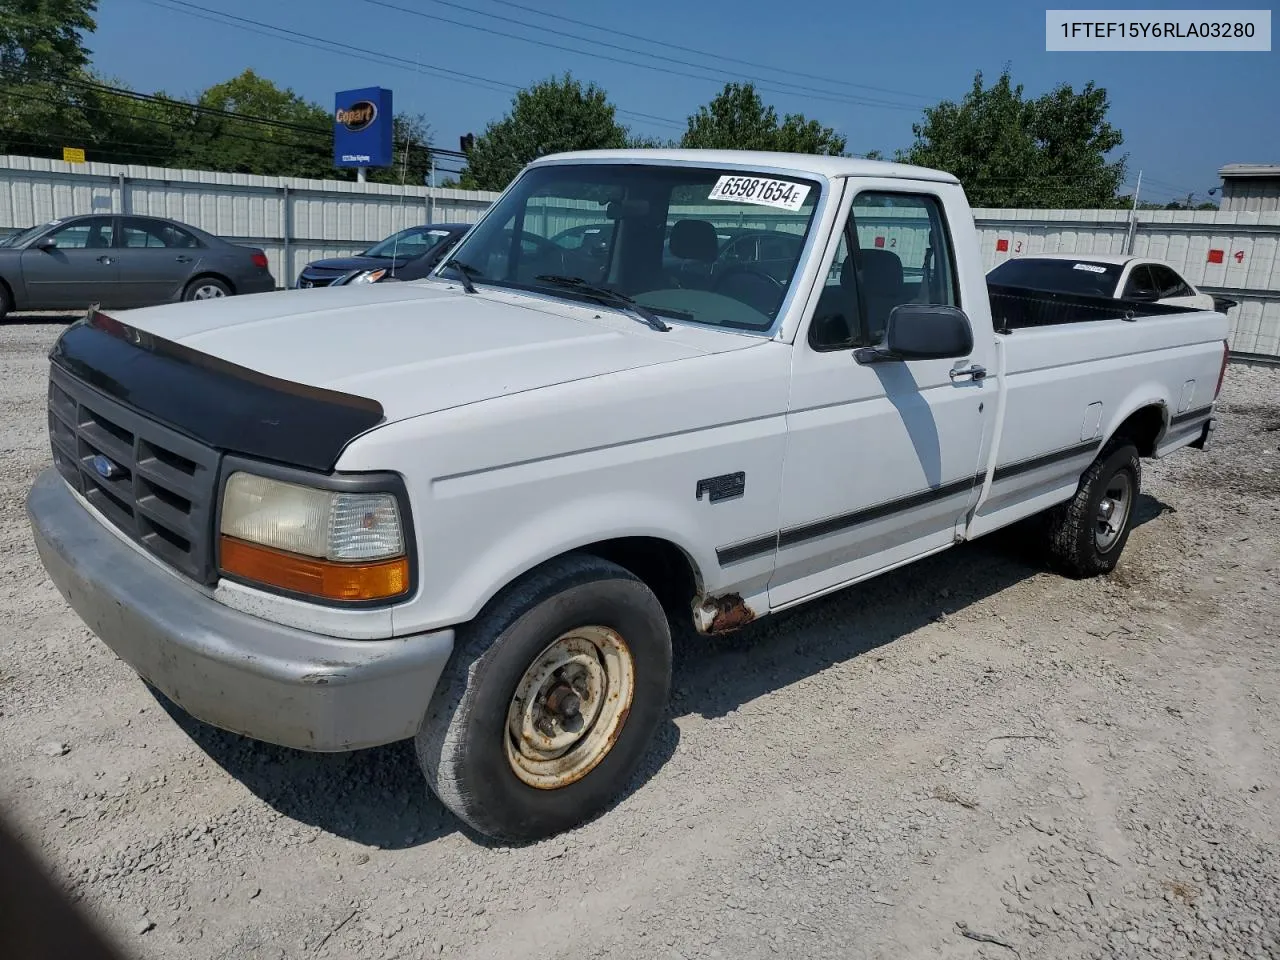
<svg viewBox="0 0 1280 960"><path fill-rule="evenodd" d="M282 380L374 399L388 421L741 349L762 338L612 307L440 282L300 289L115 315L140 330Z"/></svg>

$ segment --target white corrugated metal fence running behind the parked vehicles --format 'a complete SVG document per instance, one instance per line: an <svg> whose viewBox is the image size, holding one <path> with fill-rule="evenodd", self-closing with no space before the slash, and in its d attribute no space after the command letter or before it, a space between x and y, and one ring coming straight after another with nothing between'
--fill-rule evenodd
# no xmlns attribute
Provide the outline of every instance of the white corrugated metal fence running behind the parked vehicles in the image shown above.
<svg viewBox="0 0 1280 960"><path fill-rule="evenodd" d="M357 253L404 227L474 223L494 197L0 156L0 236L76 214L168 216L261 247L280 285L292 284L308 260ZM558 228L595 216L585 209L547 212L548 225ZM987 269L1039 252L1132 252L1166 260L1204 292L1239 301L1229 311L1233 349L1280 357L1280 211L977 209L974 223Z"/></svg>

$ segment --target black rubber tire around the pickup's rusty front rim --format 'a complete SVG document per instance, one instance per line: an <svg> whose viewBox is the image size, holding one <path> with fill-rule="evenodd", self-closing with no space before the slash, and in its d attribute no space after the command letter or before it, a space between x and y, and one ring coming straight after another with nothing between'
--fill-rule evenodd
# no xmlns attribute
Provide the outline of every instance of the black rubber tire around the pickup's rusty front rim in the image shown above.
<svg viewBox="0 0 1280 960"><path fill-rule="evenodd" d="M622 637L634 692L603 759L556 788L530 786L508 760L508 707L526 669L567 631L603 626ZM644 759L671 691L671 628L654 593L588 554L550 561L504 589L460 632L419 730L431 791L472 829L500 841L553 836L607 809Z"/></svg>

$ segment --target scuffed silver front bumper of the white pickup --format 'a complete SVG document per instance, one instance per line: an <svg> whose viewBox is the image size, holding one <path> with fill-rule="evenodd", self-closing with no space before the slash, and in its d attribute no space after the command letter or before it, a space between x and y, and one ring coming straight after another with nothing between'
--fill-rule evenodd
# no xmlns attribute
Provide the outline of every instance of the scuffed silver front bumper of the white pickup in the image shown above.
<svg viewBox="0 0 1280 960"><path fill-rule="evenodd" d="M40 559L84 623L193 717L300 750L413 736L453 631L340 640L230 609L109 530L52 468L27 497Z"/></svg>

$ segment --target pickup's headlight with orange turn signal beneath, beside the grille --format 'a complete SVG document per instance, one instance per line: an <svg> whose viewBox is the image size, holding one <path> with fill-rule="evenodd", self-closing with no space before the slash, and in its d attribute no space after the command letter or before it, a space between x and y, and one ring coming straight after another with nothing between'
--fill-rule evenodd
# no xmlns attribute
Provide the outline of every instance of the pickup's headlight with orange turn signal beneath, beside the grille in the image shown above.
<svg viewBox="0 0 1280 960"><path fill-rule="evenodd" d="M223 490L220 568L329 600L408 591L399 502L390 493L321 490L237 471Z"/></svg>

